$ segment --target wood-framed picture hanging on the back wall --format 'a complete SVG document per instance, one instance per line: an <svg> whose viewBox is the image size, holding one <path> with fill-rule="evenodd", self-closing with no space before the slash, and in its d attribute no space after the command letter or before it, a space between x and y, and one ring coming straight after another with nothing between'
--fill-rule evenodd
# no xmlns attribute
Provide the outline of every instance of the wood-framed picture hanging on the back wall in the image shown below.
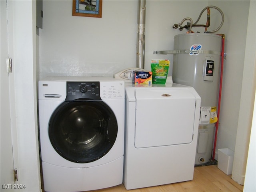
<svg viewBox="0 0 256 192"><path fill-rule="evenodd" d="M101 18L102 0L73 0L73 16Z"/></svg>

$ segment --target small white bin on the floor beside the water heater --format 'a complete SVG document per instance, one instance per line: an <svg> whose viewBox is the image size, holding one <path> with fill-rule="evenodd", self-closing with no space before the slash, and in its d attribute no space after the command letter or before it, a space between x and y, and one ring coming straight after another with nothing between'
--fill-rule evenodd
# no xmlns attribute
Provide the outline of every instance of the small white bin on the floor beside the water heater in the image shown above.
<svg viewBox="0 0 256 192"><path fill-rule="evenodd" d="M218 168L227 175L232 174L234 151L224 148L218 149Z"/></svg>

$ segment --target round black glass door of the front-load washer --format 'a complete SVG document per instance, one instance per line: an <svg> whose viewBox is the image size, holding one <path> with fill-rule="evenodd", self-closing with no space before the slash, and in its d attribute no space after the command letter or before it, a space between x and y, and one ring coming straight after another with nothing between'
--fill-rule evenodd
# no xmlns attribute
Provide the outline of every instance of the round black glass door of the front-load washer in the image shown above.
<svg viewBox="0 0 256 192"><path fill-rule="evenodd" d="M118 132L114 112L103 101L65 101L52 114L49 138L66 160L98 160L114 145Z"/></svg>

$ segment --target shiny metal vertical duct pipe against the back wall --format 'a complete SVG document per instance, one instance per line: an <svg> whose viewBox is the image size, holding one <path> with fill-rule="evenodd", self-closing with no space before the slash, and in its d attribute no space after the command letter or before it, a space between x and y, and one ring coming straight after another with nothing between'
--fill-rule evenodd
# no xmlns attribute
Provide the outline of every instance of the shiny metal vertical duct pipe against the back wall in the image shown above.
<svg viewBox="0 0 256 192"><path fill-rule="evenodd" d="M145 66L145 18L146 18L146 0L138 0L136 67L141 69L144 69L144 66Z"/></svg>

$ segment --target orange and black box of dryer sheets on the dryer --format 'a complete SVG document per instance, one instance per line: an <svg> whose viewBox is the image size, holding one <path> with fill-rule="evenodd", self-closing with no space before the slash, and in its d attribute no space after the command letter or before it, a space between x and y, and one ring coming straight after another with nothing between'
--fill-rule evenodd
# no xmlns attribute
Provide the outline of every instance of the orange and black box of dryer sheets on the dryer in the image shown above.
<svg viewBox="0 0 256 192"><path fill-rule="evenodd" d="M151 71L133 71L132 83L134 84L152 84Z"/></svg>

